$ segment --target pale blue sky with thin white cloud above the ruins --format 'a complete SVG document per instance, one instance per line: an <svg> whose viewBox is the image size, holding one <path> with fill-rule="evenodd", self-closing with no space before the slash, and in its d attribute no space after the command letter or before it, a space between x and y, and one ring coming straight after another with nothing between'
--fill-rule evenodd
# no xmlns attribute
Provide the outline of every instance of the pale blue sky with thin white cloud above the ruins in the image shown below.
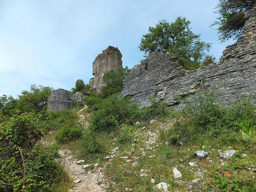
<svg viewBox="0 0 256 192"><path fill-rule="evenodd" d="M88 83L92 62L108 45L118 47L123 66L143 59L138 46L149 26L179 16L217 59L233 41L220 43L209 26L218 0L0 0L0 96L16 97L31 84L70 90Z"/></svg>

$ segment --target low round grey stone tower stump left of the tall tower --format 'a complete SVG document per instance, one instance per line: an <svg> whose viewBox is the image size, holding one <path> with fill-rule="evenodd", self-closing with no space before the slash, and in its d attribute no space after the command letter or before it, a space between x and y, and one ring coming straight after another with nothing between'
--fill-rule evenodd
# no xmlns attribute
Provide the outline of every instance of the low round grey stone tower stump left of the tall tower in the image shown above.
<svg viewBox="0 0 256 192"><path fill-rule="evenodd" d="M73 105L70 95L65 89L52 91L47 102L47 112L55 112L71 108Z"/></svg>

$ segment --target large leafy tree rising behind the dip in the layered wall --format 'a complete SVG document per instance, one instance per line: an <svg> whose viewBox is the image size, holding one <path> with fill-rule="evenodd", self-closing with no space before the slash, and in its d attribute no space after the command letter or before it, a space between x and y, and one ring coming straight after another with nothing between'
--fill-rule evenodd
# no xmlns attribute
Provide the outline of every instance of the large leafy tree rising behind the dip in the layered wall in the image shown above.
<svg viewBox="0 0 256 192"><path fill-rule="evenodd" d="M209 51L211 44L200 41L200 34L194 34L189 24L190 21L181 17L171 23L159 21L156 27L149 27L149 33L141 38L140 51L148 54L165 49L179 56L181 65L186 69L199 68L204 50Z"/></svg>

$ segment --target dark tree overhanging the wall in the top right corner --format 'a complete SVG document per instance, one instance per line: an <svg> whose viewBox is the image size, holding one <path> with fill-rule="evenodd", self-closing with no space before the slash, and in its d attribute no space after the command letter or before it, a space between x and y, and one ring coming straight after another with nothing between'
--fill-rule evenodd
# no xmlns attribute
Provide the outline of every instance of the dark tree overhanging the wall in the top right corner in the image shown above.
<svg viewBox="0 0 256 192"><path fill-rule="evenodd" d="M219 13L217 21L210 26L219 26L219 40L224 42L230 38L237 39L244 27L244 12L253 8L255 0L219 0L215 13Z"/></svg>

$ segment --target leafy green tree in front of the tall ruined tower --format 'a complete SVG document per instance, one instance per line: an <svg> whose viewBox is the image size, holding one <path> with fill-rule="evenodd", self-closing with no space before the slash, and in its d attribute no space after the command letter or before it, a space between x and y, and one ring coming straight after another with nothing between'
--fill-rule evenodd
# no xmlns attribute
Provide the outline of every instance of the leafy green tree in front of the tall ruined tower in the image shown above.
<svg viewBox="0 0 256 192"><path fill-rule="evenodd" d="M117 71L113 69L107 71L103 75L103 83L105 86L102 87L100 96L107 98L114 93L121 92L124 89L126 76L130 71L131 69L128 69L127 66L125 68L118 68Z"/></svg>

